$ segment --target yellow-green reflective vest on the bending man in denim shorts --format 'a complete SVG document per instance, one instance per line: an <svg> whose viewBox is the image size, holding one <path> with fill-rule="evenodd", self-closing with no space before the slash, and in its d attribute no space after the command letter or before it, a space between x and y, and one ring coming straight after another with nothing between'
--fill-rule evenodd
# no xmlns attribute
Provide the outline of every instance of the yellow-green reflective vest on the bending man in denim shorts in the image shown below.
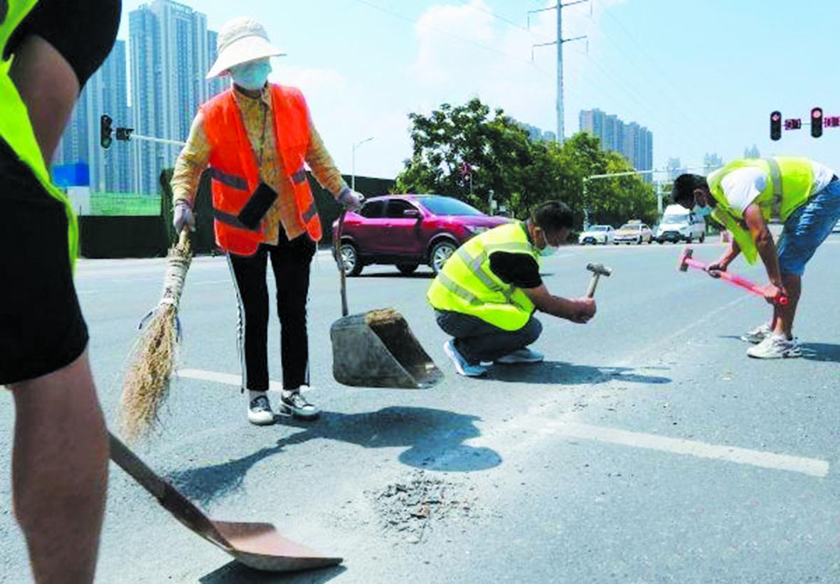
<svg viewBox="0 0 840 584"><path fill-rule="evenodd" d="M742 158L732 160L727 166L708 176L709 192L715 197L717 207L711 213L719 224L732 232L744 258L751 264L759 257L753 236L749 234L743 220L743 212L733 209L723 192L721 182L724 176L740 168L760 168L767 176L767 186L753 203L759 205L765 221L777 217L785 222L790 214L807 203L813 194L814 169L811 160L776 156L774 158Z"/></svg>

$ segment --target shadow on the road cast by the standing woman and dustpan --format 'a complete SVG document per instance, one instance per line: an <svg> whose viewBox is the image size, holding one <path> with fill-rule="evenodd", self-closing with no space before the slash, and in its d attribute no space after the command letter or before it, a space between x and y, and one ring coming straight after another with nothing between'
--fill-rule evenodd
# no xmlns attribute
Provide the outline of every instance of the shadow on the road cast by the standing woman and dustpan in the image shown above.
<svg viewBox="0 0 840 584"><path fill-rule="evenodd" d="M251 466L281 453L287 446L312 439L349 442L365 448L407 446L399 456L407 466L431 471L485 471L499 466L501 456L489 448L463 444L481 435L477 416L431 408L383 408L368 413L323 412L315 422L279 418L281 426L302 429L277 441L275 446L219 465L176 471L167 479L189 497L207 505L235 492Z"/></svg>

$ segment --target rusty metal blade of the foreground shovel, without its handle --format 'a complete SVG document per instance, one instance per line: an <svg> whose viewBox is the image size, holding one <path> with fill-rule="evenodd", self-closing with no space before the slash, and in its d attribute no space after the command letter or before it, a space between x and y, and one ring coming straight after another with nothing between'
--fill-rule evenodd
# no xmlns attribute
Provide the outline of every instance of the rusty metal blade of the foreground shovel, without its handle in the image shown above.
<svg viewBox="0 0 840 584"><path fill-rule="evenodd" d="M341 558L329 558L286 539L271 523L213 521L221 536L219 545L240 563L262 571L314 570L338 566Z"/></svg>

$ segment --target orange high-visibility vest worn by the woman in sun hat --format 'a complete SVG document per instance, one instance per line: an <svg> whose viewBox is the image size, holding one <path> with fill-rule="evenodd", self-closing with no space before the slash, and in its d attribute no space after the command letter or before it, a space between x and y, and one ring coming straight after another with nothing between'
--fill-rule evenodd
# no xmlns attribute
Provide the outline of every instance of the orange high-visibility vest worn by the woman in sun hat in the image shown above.
<svg viewBox="0 0 840 584"><path fill-rule="evenodd" d="M318 241L321 239L321 219L304 166L311 137L307 103L295 87L270 84L270 89L275 147L283 162L283 175L294 189L301 223L309 237ZM260 185L260 169L242 123L234 89L213 97L201 106L201 111L204 134L210 145L216 243L229 253L253 255L265 240L265 224L248 229L237 216Z"/></svg>

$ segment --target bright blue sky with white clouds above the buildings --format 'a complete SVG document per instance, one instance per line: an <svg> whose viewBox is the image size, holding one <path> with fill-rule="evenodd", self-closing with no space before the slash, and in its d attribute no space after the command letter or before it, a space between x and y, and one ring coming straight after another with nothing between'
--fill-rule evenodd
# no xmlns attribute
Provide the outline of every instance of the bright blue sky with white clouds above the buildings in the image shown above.
<svg viewBox="0 0 840 584"><path fill-rule="evenodd" d="M569 2L570 0L567 0ZM128 13L142 2L123 0ZM393 176L410 155L407 113L473 96L528 124L554 129L553 5L535 0L186 0L218 30L259 18L289 55L272 79L302 87L316 126L343 171L351 145L359 174ZM837 0L592 0L564 8L565 127L601 108L654 133L654 166L705 152L724 159L807 155L840 169L840 128L769 139L769 113L806 121L811 107L840 116Z"/></svg>

